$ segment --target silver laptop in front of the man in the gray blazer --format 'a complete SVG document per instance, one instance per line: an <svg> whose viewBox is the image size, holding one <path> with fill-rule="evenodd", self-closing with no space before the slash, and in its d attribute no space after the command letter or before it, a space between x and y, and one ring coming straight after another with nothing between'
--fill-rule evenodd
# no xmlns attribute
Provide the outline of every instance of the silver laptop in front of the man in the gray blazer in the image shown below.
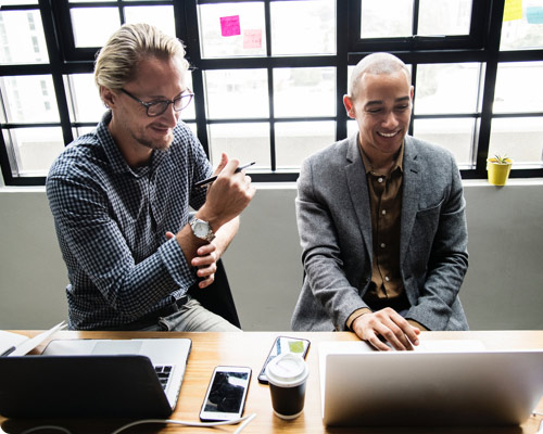
<svg viewBox="0 0 543 434"><path fill-rule="evenodd" d="M426 341L379 353L361 341L318 352L326 425L516 425L543 395L543 350Z"/></svg>

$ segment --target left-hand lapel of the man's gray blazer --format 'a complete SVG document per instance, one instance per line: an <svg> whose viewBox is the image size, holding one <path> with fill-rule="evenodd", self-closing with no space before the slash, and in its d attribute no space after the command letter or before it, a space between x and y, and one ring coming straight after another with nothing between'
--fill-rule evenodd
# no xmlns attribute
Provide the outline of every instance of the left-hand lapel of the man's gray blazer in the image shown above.
<svg viewBox="0 0 543 434"><path fill-rule="evenodd" d="M358 149L358 135L349 139L345 164L346 184L350 191L353 208L358 219L358 228L371 257L371 215L369 210L369 193L364 163Z"/></svg>

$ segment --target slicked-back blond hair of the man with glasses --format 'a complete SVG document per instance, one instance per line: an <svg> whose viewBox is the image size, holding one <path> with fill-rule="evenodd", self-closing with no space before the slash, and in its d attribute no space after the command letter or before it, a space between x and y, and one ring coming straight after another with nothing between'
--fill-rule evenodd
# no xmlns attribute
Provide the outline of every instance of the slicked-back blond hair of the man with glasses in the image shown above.
<svg viewBox="0 0 543 434"><path fill-rule="evenodd" d="M179 39L149 24L124 24L97 53L94 84L99 90L102 87L119 90L134 79L138 63L150 56L179 59L186 69L189 68Z"/></svg>

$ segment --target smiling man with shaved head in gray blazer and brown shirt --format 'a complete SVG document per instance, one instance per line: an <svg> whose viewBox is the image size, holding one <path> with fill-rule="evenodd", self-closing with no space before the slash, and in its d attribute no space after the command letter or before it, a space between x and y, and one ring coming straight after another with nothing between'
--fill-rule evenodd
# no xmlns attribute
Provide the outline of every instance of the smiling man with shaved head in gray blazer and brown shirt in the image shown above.
<svg viewBox="0 0 543 434"><path fill-rule="evenodd" d="M400 59L364 58L343 98L358 133L304 161L293 330L352 330L383 350L413 349L420 330L467 330L460 176L449 151L407 136L413 92Z"/></svg>

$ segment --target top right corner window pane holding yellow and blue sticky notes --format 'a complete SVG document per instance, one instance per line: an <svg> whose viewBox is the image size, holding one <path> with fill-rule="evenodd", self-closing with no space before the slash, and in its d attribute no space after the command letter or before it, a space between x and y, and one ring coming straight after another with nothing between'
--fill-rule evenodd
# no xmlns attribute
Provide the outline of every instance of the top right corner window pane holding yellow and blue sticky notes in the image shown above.
<svg viewBox="0 0 543 434"><path fill-rule="evenodd" d="M543 1L522 2L520 16L504 14L501 50L543 48Z"/></svg>

